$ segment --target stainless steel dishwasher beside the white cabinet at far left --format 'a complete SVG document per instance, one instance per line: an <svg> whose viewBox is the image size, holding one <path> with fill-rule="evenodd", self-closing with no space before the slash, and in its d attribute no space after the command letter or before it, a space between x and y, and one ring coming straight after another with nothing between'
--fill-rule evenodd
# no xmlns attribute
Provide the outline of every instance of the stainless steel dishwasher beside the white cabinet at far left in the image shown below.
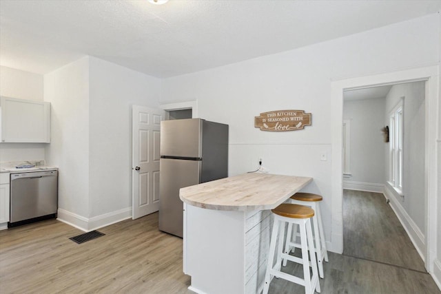
<svg viewBox="0 0 441 294"><path fill-rule="evenodd" d="M11 174L8 227L57 217L58 171Z"/></svg>

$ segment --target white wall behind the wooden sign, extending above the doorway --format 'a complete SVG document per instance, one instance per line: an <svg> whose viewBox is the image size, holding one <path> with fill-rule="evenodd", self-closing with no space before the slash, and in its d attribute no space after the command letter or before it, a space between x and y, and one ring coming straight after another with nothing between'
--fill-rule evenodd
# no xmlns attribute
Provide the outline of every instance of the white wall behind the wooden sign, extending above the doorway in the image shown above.
<svg viewBox="0 0 441 294"><path fill-rule="evenodd" d="M341 165L330 162L331 81L438 63L439 32L439 16L432 14L298 50L167 78L161 103L197 99L199 116L229 124L230 175L255 169L261 157L271 173L314 177L307 190L324 197L326 239L333 250L332 242L342 240L342 232L338 224L331 231L331 178L334 165ZM254 128L254 116L277 109L311 112L312 125L302 131L278 133ZM327 152L328 161L320 161L320 152Z"/></svg>

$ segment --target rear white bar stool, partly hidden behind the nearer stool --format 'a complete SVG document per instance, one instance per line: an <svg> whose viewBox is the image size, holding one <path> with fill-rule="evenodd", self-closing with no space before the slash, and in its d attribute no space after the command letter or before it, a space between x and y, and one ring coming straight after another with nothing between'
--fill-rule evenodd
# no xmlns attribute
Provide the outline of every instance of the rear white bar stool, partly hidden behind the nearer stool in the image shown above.
<svg viewBox="0 0 441 294"><path fill-rule="evenodd" d="M292 204L300 204L300 205L306 205L311 207L311 209L314 209L315 215L312 218L313 227L314 227L314 249L317 253L317 262L318 262L318 273L321 278L325 277L325 274L323 272L323 260L325 262L328 262L328 253L326 249L326 242L325 242L325 233L323 232L323 222L322 222L322 216L320 213L320 201L322 201L323 198L320 195L313 194L313 193L295 193L293 196L291 196L291 203ZM294 226L294 240L292 240L292 224L288 225L288 233L287 233L287 241L285 243L285 253L289 253L289 251L292 249L292 252L296 248L300 248L300 244L296 243L296 236L297 236L297 228ZM283 266L286 266L287 260L283 260Z"/></svg>

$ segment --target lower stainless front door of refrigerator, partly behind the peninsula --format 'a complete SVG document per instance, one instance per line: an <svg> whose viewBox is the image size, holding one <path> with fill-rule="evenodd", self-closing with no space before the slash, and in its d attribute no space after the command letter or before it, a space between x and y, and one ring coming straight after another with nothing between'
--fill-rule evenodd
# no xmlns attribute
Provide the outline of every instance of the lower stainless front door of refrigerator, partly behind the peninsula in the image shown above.
<svg viewBox="0 0 441 294"><path fill-rule="evenodd" d="M199 183L201 160L161 158L159 229L183 237L183 202L179 189Z"/></svg>

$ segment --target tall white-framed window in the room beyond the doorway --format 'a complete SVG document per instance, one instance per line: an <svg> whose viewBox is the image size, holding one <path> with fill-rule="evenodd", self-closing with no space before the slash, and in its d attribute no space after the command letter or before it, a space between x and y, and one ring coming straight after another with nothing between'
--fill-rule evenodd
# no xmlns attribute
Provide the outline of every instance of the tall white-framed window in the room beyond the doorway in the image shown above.
<svg viewBox="0 0 441 294"><path fill-rule="evenodd" d="M403 173L403 101L393 107L389 114L389 184L394 187L398 193L402 193L402 173Z"/></svg>

